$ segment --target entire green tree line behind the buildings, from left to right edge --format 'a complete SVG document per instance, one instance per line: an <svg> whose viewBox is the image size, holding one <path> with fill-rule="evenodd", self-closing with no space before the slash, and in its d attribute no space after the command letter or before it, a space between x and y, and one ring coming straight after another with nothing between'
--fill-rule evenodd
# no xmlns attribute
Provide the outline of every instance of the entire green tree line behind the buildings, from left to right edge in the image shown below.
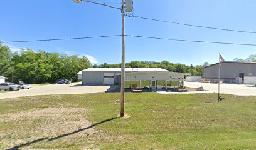
<svg viewBox="0 0 256 150"><path fill-rule="evenodd" d="M250 55L247 59L235 58L234 61L256 62L256 55ZM127 68L162 68L179 73L191 73L192 76L203 76L203 68L210 65L208 62L193 66L169 61L131 61L125 63ZM56 79L70 79L77 81L76 74L87 68L120 68L121 64L92 64L85 56L60 53L48 53L46 51L33 51L21 49L11 52L8 46L0 43L0 75L8 78L7 81L24 81L26 83L54 83Z"/></svg>

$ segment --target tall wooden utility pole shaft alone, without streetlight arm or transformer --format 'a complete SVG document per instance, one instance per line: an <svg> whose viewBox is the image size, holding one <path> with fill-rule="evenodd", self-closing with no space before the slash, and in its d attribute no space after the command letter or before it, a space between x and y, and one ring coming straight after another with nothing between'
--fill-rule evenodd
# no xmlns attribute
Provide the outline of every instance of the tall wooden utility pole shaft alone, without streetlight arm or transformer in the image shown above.
<svg viewBox="0 0 256 150"><path fill-rule="evenodd" d="M122 69L121 69L121 110L120 116L124 117L124 79L125 79L125 39L124 39L124 0L122 0Z"/></svg>

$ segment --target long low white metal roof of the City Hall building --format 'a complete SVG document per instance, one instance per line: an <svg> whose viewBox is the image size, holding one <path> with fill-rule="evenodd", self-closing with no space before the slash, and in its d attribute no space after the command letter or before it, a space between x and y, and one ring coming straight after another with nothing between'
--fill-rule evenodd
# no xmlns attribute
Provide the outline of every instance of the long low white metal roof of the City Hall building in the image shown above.
<svg viewBox="0 0 256 150"><path fill-rule="evenodd" d="M83 71L121 71L121 68L88 68ZM159 71L159 72L169 72L162 68L125 68L125 71Z"/></svg>

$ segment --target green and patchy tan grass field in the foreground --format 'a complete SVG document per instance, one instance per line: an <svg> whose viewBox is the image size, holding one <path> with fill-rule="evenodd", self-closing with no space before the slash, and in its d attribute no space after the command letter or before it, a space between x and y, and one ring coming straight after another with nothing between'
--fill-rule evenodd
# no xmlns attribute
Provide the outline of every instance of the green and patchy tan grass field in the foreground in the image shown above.
<svg viewBox="0 0 256 150"><path fill-rule="evenodd" d="M0 149L256 149L256 97L119 93L0 100Z"/></svg>

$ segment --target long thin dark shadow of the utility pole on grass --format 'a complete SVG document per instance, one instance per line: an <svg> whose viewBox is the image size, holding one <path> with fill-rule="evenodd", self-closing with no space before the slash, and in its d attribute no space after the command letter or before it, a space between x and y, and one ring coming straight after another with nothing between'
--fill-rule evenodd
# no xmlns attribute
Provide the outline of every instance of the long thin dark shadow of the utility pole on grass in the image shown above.
<svg viewBox="0 0 256 150"><path fill-rule="evenodd" d="M18 149L21 148L21 147L29 146L29 145L31 145L31 144L38 143L38 142L40 142L40 141L45 141L45 140L47 140L48 142L50 142L50 141L53 141L53 140L56 140L56 139L59 139L59 138L63 138L63 137L65 137L65 136L70 136L70 135L72 135L72 134L80 133L80 132L85 131L85 130L87 130L87 129L93 128L94 126L97 126L97 125L99 125L99 124L112 121L112 120L117 119L117 118L120 118L120 117L115 117L115 118L111 118L111 119L106 119L106 120L104 120L104 121L100 121L99 123L92 124L91 126L88 126L88 127L86 127L86 128L78 129L77 131L73 131L72 133L62 134L62 135L56 136L56 137L54 137L54 138L48 138L48 137L46 137L46 138L36 139L36 140L34 140L34 141L31 141L31 142L28 142L28 143L25 143L25 144L20 144L20 145L18 145L18 146L14 146L13 148L9 148L9 149L6 149L6 150L18 150Z"/></svg>

